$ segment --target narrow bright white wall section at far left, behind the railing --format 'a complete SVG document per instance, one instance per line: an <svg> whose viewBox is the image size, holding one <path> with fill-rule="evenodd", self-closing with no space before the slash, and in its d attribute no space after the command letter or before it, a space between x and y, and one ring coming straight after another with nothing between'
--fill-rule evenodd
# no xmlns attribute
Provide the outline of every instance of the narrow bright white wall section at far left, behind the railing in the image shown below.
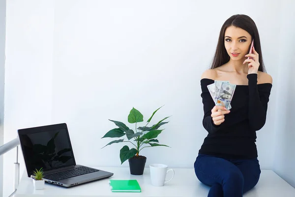
<svg viewBox="0 0 295 197"><path fill-rule="evenodd" d="M13 0L6 9L4 143L17 129L52 122L54 2ZM13 191L14 162L15 149L4 155L4 197Z"/></svg>

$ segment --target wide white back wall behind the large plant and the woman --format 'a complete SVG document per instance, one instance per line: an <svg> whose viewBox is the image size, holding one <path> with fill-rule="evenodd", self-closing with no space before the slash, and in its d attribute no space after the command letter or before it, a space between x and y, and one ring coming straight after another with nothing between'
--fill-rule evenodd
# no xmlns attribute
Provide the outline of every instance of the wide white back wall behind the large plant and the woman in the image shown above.
<svg viewBox="0 0 295 197"><path fill-rule="evenodd" d="M195 1L87 2L62 0L55 4L52 121L68 123L78 161L119 165L122 144L100 149L111 141L100 139L114 127L108 119L126 122L132 107L148 118L165 104L155 119L173 115L159 137L172 149L157 147L142 154L148 157L148 164L192 167L207 135L201 123L200 75L212 59L222 23L235 13L218 9L216 15L202 20L207 10L200 8L210 6ZM255 14L262 7L266 18ZM265 9L258 4L255 9L247 14L265 37L262 45L268 71L276 73L270 58L274 52L267 50L268 38L279 33L267 31L273 21L279 23L276 5ZM271 97L268 123L258 132L257 143L262 167L267 169L273 160L267 154L273 148L269 143L274 135L273 101ZM87 151L78 149L81 143ZM100 159L106 157L109 160Z"/></svg>

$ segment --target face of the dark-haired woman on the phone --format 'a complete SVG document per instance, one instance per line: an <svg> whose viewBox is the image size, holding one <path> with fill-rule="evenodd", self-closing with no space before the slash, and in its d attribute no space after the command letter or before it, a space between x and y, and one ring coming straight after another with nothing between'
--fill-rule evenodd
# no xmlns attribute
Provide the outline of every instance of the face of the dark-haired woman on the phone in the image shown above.
<svg viewBox="0 0 295 197"><path fill-rule="evenodd" d="M224 45L231 59L244 60L245 55L249 53L251 35L241 28L230 26L226 29L224 36Z"/></svg>

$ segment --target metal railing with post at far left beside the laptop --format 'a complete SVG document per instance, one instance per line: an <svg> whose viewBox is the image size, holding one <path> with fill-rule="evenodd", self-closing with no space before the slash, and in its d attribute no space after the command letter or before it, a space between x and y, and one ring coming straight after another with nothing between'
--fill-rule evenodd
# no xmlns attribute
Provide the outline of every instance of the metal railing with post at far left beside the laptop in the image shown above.
<svg viewBox="0 0 295 197"><path fill-rule="evenodd" d="M2 146L0 146L0 155L3 155L6 152L16 147L16 163L14 163L14 171L13 171L13 190L14 191L11 195L9 195L9 197L12 197L15 194L17 187L20 183L20 164L18 163L18 145L20 145L20 140L17 137L7 142L6 144L3 144Z"/></svg>

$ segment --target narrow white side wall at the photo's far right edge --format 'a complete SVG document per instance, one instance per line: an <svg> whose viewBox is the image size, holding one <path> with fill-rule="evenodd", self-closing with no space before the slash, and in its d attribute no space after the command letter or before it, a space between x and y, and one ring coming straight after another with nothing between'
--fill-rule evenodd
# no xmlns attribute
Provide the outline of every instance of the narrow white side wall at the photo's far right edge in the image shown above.
<svg viewBox="0 0 295 197"><path fill-rule="evenodd" d="M279 77L277 94L274 171L295 187L295 1L286 0L281 9ZM286 31L287 30L287 31Z"/></svg>

